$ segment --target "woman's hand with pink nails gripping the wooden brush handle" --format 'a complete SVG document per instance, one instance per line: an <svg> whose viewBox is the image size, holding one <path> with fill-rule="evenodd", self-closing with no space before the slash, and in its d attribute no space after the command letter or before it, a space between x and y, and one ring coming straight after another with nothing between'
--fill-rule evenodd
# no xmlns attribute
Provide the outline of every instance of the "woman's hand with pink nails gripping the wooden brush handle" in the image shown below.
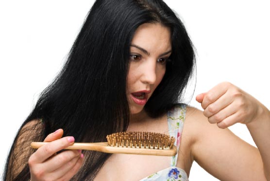
<svg viewBox="0 0 270 181"><path fill-rule="evenodd" d="M72 136L64 137L63 129L49 134L42 146L29 158L31 181L68 181L80 169L84 155L81 150L67 150L60 154L56 152L74 143Z"/></svg>

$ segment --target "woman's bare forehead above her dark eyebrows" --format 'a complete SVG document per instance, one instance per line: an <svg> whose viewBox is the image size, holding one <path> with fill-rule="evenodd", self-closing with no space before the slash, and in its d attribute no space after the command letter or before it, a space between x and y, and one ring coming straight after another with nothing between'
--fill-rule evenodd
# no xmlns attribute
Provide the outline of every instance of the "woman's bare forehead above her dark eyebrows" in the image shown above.
<svg viewBox="0 0 270 181"><path fill-rule="evenodd" d="M148 51L166 51L171 49L170 29L160 23L144 23L137 28L132 44Z"/></svg>

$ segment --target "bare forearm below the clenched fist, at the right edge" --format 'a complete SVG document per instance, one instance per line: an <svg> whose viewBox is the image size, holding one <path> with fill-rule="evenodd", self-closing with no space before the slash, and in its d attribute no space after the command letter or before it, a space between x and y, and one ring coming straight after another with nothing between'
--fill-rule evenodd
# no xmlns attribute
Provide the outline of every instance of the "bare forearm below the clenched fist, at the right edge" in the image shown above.
<svg viewBox="0 0 270 181"><path fill-rule="evenodd" d="M270 181L270 111L262 105L258 115L247 127L260 151L265 177Z"/></svg>

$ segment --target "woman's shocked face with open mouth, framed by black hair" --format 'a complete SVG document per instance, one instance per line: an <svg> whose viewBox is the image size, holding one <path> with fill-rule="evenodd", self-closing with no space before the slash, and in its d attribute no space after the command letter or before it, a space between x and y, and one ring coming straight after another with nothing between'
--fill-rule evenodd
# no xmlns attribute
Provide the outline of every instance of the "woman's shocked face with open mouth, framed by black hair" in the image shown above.
<svg viewBox="0 0 270 181"><path fill-rule="evenodd" d="M170 30L159 23L138 27L130 46L127 96L131 114L140 112L166 72Z"/></svg>

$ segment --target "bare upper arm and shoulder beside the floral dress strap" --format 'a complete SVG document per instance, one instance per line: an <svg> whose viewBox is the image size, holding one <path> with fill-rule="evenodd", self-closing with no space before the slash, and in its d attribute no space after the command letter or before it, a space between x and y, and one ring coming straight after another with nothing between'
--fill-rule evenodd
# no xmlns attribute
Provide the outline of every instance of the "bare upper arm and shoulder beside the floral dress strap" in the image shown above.
<svg viewBox="0 0 270 181"><path fill-rule="evenodd" d="M203 112L187 109L186 121L194 138L191 155L207 172L222 181L265 181L258 149L241 140L228 128L210 124Z"/></svg>

